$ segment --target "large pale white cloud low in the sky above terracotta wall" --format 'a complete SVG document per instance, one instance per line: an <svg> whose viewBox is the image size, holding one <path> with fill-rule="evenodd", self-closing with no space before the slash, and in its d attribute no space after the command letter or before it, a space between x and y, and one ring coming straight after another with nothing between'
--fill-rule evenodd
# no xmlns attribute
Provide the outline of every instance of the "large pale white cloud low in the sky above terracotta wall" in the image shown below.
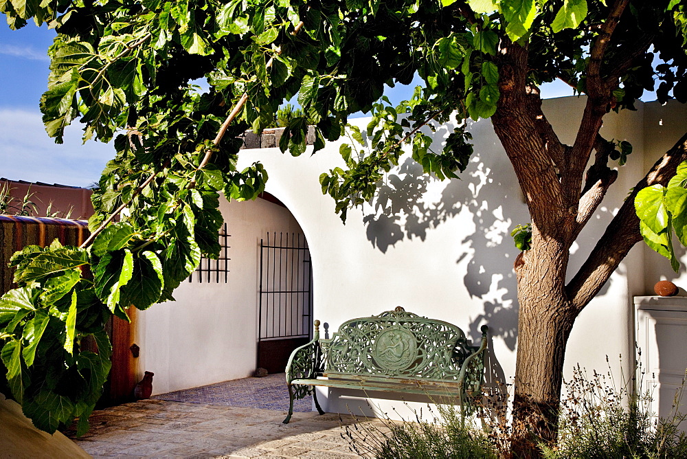
<svg viewBox="0 0 687 459"><path fill-rule="evenodd" d="M88 186L115 155L111 144L82 144L78 125L67 128L64 144L55 144L37 111L0 109L0 126L0 177Z"/></svg>

